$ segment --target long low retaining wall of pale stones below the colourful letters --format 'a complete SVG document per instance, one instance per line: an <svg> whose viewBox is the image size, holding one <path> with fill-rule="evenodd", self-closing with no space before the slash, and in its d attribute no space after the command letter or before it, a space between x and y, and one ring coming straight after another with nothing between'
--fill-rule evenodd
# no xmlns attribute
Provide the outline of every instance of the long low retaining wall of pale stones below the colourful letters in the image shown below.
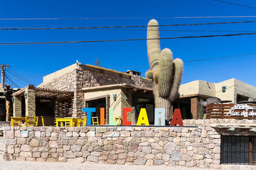
<svg viewBox="0 0 256 170"><path fill-rule="evenodd" d="M220 167L220 133L209 125L4 127L3 141L6 160Z"/></svg>

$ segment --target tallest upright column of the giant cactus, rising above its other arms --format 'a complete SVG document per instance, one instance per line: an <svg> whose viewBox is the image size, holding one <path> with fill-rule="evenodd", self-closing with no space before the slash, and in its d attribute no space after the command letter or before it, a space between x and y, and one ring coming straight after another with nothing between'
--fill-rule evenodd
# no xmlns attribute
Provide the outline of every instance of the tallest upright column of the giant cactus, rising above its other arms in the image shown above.
<svg viewBox="0 0 256 170"><path fill-rule="evenodd" d="M150 20L147 27L147 50L148 50L148 60L150 64L150 69L156 71L159 64L160 55L160 42L159 42L159 31L158 27L150 27L152 25L158 25L156 20Z"/></svg>

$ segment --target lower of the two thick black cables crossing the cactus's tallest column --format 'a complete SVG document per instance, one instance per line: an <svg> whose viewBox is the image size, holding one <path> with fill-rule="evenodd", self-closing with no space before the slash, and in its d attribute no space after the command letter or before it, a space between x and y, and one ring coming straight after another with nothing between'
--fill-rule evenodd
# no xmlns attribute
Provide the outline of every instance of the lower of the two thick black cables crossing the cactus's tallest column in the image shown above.
<svg viewBox="0 0 256 170"><path fill-rule="evenodd" d="M21 42L21 43L0 43L0 45L42 45L42 44L63 44L63 43L99 43L99 42L113 42L113 41L141 41L150 39L180 39L180 38L209 38L209 37L221 37L221 36L244 36L255 35L256 32L240 33L240 34L222 34L211 36L181 36L170 38L140 38L140 39L108 39L108 40L92 40L92 41L48 41L48 42Z"/></svg>

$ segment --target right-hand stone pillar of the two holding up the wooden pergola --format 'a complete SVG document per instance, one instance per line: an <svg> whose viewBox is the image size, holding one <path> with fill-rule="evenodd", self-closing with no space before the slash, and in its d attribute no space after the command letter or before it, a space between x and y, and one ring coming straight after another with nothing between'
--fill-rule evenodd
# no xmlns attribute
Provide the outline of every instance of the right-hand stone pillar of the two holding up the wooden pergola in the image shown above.
<svg viewBox="0 0 256 170"><path fill-rule="evenodd" d="M35 90L27 89L24 92L26 104L26 116L34 117L36 115L36 96Z"/></svg>

